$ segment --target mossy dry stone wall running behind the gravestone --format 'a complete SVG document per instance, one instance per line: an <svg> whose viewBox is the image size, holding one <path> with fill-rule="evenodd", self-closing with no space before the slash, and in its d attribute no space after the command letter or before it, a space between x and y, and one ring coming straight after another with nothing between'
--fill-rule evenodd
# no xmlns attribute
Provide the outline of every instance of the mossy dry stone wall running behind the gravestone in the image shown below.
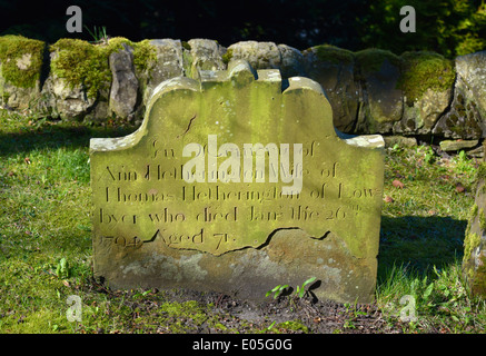
<svg viewBox="0 0 486 356"><path fill-rule="evenodd" d="M280 70L284 86L296 76L320 83L335 126L346 134L462 139L467 149L475 148L468 140L480 145L486 135L486 51L448 60L434 52L396 56L327 44L300 51L274 42L225 48L209 39L113 38L100 43L61 39L48 46L6 36L0 38L0 99L6 109L63 120L141 121L160 82L198 79L199 70L226 70L238 59L256 70ZM19 80L22 76L28 80Z"/></svg>

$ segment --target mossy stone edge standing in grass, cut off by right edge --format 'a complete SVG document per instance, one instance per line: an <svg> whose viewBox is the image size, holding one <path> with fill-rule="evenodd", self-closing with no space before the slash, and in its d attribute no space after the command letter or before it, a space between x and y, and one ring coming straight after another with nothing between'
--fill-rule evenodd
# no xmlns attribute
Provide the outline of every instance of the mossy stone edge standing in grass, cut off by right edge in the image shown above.
<svg viewBox="0 0 486 356"><path fill-rule="evenodd" d="M486 297L486 166L478 170L475 204L464 239L463 273L474 295Z"/></svg>

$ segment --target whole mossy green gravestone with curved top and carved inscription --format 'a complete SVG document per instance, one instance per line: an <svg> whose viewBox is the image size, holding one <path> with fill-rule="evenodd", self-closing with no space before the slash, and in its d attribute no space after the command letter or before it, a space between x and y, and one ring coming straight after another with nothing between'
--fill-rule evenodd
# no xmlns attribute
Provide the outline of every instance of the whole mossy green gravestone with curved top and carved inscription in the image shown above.
<svg viewBox="0 0 486 356"><path fill-rule="evenodd" d="M370 301L383 138L337 132L309 79L242 60L199 77L162 82L136 132L91 139L96 276L249 299L316 277L319 298Z"/></svg>

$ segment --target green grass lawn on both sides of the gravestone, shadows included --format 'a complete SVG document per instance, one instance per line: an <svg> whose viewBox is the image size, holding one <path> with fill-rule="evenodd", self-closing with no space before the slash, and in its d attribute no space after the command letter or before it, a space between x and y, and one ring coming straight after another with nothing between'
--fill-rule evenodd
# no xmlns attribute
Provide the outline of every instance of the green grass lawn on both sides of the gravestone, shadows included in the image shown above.
<svg viewBox="0 0 486 356"><path fill-rule="evenodd" d="M271 318L236 327L230 316L211 314L212 304L105 289L91 277L89 139L133 128L9 111L0 112L0 333L309 332L299 320ZM485 301L469 296L460 274L475 172L465 155L446 160L426 146L387 149L376 291L384 329L485 333ZM81 322L67 318L70 295L82 300ZM413 301L416 319L403 322ZM347 309L338 333L356 329L366 314L358 306Z"/></svg>

